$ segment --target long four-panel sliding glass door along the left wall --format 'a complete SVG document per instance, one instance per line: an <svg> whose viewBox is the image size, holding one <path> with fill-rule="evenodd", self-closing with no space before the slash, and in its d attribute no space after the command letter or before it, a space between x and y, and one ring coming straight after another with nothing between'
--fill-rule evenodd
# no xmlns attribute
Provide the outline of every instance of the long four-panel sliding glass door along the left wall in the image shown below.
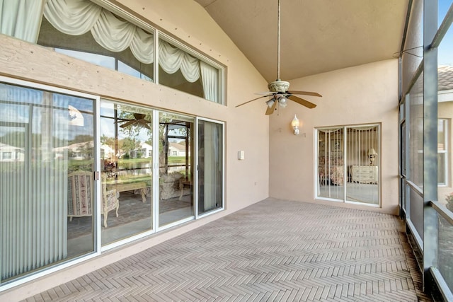
<svg viewBox="0 0 453 302"><path fill-rule="evenodd" d="M222 122L6 80L0 283L223 209Z"/></svg>

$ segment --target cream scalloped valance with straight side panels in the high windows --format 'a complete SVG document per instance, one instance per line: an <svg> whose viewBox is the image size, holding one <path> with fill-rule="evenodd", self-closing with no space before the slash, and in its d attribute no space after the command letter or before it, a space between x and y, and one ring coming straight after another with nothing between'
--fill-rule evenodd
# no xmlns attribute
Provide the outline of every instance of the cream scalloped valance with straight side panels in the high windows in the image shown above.
<svg viewBox="0 0 453 302"><path fill-rule="evenodd" d="M106 50L122 52L129 47L139 62L154 62L154 36L151 33L89 0L0 0L0 33L35 43L42 14L62 33L83 35L90 31L94 40ZM200 59L164 40L159 40L159 65L168 74L180 70L190 83L202 76L205 98L218 101L217 69L214 67L202 64Z"/></svg>

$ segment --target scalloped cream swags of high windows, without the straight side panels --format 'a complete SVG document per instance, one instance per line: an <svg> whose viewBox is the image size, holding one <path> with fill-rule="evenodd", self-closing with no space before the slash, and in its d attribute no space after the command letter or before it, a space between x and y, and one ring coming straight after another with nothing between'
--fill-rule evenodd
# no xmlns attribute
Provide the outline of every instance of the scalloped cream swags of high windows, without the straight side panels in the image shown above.
<svg viewBox="0 0 453 302"><path fill-rule="evenodd" d="M117 18L110 11L88 0L48 0L44 16L57 30L67 35L88 31L106 50L122 52L130 47L134 57L144 64L154 62L154 37L142 28ZM200 60L187 52L159 41L159 65L168 74L180 69L193 83L200 79Z"/></svg>

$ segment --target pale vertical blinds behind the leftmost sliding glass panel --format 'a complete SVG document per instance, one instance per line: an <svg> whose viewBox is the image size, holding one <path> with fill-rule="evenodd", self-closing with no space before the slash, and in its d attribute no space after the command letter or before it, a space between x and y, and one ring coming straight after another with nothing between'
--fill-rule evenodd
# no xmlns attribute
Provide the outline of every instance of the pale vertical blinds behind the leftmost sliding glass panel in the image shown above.
<svg viewBox="0 0 453 302"><path fill-rule="evenodd" d="M67 153L52 153L67 143L67 107L54 103L53 93L0 83L2 152L18 154L0 161L1 281L67 255Z"/></svg>

